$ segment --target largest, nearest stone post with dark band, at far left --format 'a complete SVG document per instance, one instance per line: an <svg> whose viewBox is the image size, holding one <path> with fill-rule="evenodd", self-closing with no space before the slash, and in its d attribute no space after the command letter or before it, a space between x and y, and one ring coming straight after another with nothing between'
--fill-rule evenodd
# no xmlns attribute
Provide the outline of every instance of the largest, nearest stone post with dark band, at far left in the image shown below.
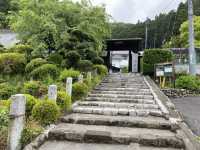
<svg viewBox="0 0 200 150"><path fill-rule="evenodd" d="M21 134L25 123L26 98L22 94L11 97L8 150L20 150Z"/></svg>

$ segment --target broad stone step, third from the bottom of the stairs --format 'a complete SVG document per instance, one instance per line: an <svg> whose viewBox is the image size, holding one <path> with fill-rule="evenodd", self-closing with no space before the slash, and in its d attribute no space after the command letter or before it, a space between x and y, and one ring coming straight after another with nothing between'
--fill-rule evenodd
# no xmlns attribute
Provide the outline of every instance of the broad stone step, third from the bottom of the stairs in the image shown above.
<svg viewBox="0 0 200 150"><path fill-rule="evenodd" d="M104 116L92 114L71 114L61 118L63 123L104 125L130 128L148 128L175 131L178 125L158 117Z"/></svg>

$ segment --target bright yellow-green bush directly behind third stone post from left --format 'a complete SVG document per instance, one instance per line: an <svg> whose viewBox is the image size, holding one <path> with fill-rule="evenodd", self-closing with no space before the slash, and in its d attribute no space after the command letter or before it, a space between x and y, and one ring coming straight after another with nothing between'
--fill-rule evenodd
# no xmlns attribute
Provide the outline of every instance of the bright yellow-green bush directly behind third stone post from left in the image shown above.
<svg viewBox="0 0 200 150"><path fill-rule="evenodd" d="M77 70L74 70L74 69L67 70L67 69L65 69L60 73L60 80L65 82L68 77L72 77L73 79L77 79L79 75L80 75L80 72L77 71Z"/></svg>

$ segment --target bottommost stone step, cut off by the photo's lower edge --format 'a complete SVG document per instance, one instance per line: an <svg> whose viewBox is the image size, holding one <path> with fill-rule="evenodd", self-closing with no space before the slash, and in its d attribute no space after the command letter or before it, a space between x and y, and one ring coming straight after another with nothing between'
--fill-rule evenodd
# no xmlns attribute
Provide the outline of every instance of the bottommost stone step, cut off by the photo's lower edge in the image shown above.
<svg viewBox="0 0 200 150"><path fill-rule="evenodd" d="M78 143L69 141L47 141L39 150L181 150L175 148L157 148L140 146L139 144L120 145L120 144L97 144L97 143Z"/></svg>

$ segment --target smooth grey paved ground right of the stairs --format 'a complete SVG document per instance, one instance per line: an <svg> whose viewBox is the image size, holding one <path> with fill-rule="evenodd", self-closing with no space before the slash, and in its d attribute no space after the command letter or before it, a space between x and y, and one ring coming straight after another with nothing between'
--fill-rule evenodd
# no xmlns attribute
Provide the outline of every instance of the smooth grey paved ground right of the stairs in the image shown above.
<svg viewBox="0 0 200 150"><path fill-rule="evenodd" d="M172 99L192 131L200 136L200 97Z"/></svg>

